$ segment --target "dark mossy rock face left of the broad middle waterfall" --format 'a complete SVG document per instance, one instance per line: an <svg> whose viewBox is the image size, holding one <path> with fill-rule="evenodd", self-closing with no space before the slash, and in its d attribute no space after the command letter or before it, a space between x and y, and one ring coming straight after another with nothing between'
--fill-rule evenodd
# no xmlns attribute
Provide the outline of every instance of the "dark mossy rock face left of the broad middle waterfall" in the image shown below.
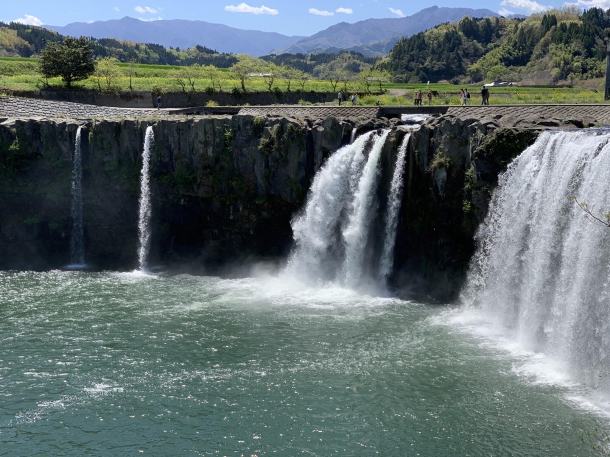
<svg viewBox="0 0 610 457"><path fill-rule="evenodd" d="M82 122L81 122L82 124ZM135 266L143 121L82 130L87 263ZM61 267L70 258L76 121L0 124L0 269ZM151 264L214 271L284 255L290 219L315 172L349 141L353 122L198 118L154 126Z"/></svg>

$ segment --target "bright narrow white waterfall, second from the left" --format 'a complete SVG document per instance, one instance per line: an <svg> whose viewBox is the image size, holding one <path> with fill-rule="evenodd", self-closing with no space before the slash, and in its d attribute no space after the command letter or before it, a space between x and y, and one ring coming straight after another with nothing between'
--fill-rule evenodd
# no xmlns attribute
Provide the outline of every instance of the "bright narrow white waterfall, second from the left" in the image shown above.
<svg viewBox="0 0 610 457"><path fill-rule="evenodd" d="M151 191L150 165L151 149L154 144L152 126L146 127L144 151L142 152L142 173L140 174L140 210L138 213L138 266L140 271L146 269L150 247Z"/></svg>

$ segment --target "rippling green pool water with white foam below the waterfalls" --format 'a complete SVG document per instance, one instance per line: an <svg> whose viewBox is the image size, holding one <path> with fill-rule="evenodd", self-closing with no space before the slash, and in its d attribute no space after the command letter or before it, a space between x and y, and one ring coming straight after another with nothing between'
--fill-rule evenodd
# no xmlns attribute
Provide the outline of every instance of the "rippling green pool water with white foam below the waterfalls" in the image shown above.
<svg viewBox="0 0 610 457"><path fill-rule="evenodd" d="M0 272L0 455L588 455L453 311L286 278ZM572 399L572 400L570 400Z"/></svg>

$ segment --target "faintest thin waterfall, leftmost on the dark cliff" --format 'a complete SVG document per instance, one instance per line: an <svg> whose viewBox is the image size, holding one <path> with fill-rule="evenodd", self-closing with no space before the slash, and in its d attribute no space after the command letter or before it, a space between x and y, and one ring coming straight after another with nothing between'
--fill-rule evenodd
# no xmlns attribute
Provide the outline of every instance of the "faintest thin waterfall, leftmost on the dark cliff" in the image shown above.
<svg viewBox="0 0 610 457"><path fill-rule="evenodd" d="M70 268L85 267L85 247L82 229L82 154L81 127L76 130L76 146L72 169L72 232L70 233Z"/></svg>

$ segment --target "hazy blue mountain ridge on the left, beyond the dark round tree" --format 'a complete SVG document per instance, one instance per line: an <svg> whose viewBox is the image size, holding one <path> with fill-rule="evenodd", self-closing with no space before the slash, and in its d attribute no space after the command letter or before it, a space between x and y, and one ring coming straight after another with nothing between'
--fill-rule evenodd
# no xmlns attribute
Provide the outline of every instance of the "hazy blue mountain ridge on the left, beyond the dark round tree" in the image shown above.
<svg viewBox="0 0 610 457"><path fill-rule="evenodd" d="M165 47L190 48L201 44L218 52L245 52L250 55L265 55L271 49L287 47L304 37L287 37L274 32L242 30L223 24L204 21L171 19L167 21L140 21L125 16L123 19L75 22L67 26L43 26L71 37L117 38L117 40L156 43Z"/></svg>

